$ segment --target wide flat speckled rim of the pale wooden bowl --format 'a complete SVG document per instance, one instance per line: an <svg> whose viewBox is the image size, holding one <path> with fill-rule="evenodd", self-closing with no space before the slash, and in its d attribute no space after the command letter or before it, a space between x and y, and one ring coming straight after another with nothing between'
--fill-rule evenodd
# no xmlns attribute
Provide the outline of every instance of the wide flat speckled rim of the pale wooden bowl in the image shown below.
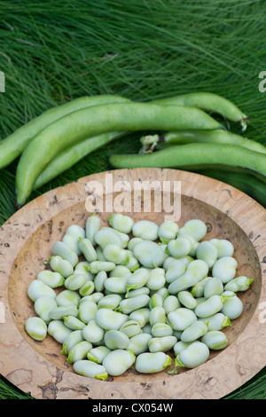
<svg viewBox="0 0 266 417"><path fill-rule="evenodd" d="M182 194L204 201L230 216L247 236L253 232L254 250L261 266L265 263L266 210L245 193L213 178L179 169L113 169L57 187L27 203L0 227L1 240L8 242L8 246L3 243L2 248L0 247L2 252L0 302L4 305L4 320L1 321L0 318L0 373L36 399L224 397L234 389L238 389L266 365L266 332L263 326L266 321L263 319L263 309L265 310L266 306L266 268L262 270L262 290L254 315L237 340L198 368L176 374L173 379L164 380L162 377L154 380L153 387L149 390L138 382L110 383L91 380L59 369L27 343L12 319L8 281L13 262L25 241L40 225L58 215L60 211L84 201L86 198L84 186L93 180L104 184L106 174L112 174L113 180L127 180L130 184L139 178L181 181ZM31 221L23 224L21 219L31 219ZM248 352L247 347L254 344L255 352Z"/></svg>

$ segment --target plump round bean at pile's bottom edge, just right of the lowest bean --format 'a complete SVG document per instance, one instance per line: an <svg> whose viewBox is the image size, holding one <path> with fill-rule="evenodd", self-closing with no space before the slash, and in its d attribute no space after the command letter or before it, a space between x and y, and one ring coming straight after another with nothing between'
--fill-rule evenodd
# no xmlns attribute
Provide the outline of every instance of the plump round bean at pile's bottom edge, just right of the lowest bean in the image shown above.
<svg viewBox="0 0 266 417"><path fill-rule="evenodd" d="M107 353L103 360L106 372L111 376L123 374L134 364L136 357L130 350L116 349Z"/></svg>

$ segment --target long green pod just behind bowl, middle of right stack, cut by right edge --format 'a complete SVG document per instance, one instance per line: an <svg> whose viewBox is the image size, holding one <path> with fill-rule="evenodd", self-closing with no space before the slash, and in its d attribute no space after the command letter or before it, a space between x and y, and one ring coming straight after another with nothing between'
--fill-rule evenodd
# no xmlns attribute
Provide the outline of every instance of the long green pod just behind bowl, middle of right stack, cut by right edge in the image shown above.
<svg viewBox="0 0 266 417"><path fill-rule="evenodd" d="M113 154L115 168L224 169L244 172L266 183L266 155L237 145L187 144L154 153Z"/></svg>

